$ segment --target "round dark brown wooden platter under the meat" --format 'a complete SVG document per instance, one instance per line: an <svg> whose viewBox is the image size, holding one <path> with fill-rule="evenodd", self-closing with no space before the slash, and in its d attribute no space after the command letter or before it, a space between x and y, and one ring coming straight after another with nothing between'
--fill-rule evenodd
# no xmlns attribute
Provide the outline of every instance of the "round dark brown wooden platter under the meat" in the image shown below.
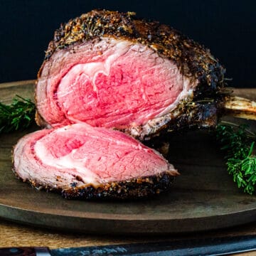
<svg viewBox="0 0 256 256"><path fill-rule="evenodd" d="M1 100L16 94L33 97L33 81L0 85ZM186 233L256 220L256 197L233 183L213 133L191 131L166 138L169 161L181 173L169 193L139 201L72 201L38 191L11 171L12 146L35 129L0 135L1 218L76 233L112 234Z"/></svg>

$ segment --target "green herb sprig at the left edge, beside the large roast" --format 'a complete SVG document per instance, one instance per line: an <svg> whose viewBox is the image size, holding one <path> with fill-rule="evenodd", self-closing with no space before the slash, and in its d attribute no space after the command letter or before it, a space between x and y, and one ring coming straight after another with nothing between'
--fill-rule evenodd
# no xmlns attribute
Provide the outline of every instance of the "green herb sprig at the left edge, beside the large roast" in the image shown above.
<svg viewBox="0 0 256 256"><path fill-rule="evenodd" d="M10 105L0 102L0 134L26 129L33 124L35 113L35 104L18 95Z"/></svg>

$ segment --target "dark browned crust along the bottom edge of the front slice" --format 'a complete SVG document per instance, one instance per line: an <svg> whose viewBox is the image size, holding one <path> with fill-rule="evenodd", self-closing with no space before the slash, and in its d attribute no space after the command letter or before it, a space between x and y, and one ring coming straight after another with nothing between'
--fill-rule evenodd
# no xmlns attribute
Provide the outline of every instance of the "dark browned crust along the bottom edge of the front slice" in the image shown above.
<svg viewBox="0 0 256 256"><path fill-rule="evenodd" d="M13 169L17 178L20 178ZM135 199L145 198L148 196L158 195L159 193L167 192L171 189L174 183L175 176L172 176L168 171L165 171L156 176L147 176L143 178L133 178L130 181L115 181L105 183L100 186L77 187L76 183L70 183L68 188L55 188L47 186L46 184L26 180L24 182L30 183L31 186L37 189L44 189L46 191L55 191L61 193L66 199L80 199L80 200L95 200L95 199Z"/></svg>

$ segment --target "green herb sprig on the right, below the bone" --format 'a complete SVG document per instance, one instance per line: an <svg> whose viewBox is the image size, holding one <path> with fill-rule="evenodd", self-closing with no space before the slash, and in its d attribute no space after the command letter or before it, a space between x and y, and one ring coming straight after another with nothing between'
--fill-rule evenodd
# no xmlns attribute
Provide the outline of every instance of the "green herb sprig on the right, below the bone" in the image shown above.
<svg viewBox="0 0 256 256"><path fill-rule="evenodd" d="M238 188L252 195L256 184L256 134L246 124L222 122L217 127L217 139L226 154L228 173L233 175Z"/></svg>

